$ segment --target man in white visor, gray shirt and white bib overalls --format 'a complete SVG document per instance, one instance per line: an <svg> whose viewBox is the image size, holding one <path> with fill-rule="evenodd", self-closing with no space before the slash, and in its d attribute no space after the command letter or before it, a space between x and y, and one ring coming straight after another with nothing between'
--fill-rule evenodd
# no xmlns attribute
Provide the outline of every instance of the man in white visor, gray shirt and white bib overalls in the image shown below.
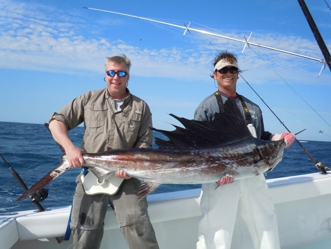
<svg viewBox="0 0 331 249"><path fill-rule="evenodd" d="M216 56L213 78L217 81L218 91L202 101L194 119L212 121L215 113L222 113L224 102L231 98L242 113L240 118L246 119L252 136L262 140L284 138L286 147L290 146L294 134L265 131L260 108L236 92L239 72L233 54L222 52ZM252 247L245 244L236 245L236 248L280 249L275 209L263 174L246 179L226 175L216 183L202 184L200 207L202 216L198 225L197 249L230 249L234 241L245 244L247 238L233 238L237 216L248 229Z"/></svg>

